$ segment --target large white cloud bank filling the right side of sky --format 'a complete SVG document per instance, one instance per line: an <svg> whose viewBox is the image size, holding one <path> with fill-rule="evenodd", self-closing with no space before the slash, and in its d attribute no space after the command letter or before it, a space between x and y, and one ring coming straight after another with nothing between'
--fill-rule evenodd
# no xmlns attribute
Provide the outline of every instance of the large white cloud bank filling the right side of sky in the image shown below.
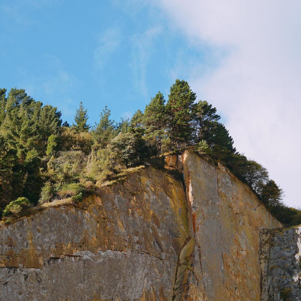
<svg viewBox="0 0 301 301"><path fill-rule="evenodd" d="M216 106L235 146L270 171L285 202L300 205L301 2L158 1L192 43L229 53L205 76L187 80Z"/></svg>

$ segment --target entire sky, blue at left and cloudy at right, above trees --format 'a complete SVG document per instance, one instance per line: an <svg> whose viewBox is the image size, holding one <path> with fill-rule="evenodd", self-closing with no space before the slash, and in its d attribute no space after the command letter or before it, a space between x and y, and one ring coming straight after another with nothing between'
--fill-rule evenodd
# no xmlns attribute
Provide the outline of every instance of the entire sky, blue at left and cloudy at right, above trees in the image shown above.
<svg viewBox="0 0 301 301"><path fill-rule="evenodd" d="M143 110L176 78L218 108L238 151L301 206L301 2L2 0L0 87L72 123Z"/></svg>

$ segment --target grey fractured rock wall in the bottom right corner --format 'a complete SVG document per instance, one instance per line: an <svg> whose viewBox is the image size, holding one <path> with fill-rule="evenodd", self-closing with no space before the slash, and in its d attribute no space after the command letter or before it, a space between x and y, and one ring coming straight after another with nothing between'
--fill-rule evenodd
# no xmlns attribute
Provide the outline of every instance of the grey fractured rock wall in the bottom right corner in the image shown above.
<svg viewBox="0 0 301 301"><path fill-rule="evenodd" d="M261 240L261 300L301 300L301 226L264 230Z"/></svg>

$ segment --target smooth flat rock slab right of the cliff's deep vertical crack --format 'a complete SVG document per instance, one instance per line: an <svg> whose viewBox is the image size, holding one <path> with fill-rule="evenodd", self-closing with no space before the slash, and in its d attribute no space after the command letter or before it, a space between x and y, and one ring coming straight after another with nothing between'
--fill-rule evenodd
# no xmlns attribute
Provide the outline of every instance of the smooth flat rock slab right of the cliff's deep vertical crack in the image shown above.
<svg viewBox="0 0 301 301"><path fill-rule="evenodd" d="M260 229L281 224L225 167L191 152L181 161L194 246L176 299L260 300Z"/></svg>

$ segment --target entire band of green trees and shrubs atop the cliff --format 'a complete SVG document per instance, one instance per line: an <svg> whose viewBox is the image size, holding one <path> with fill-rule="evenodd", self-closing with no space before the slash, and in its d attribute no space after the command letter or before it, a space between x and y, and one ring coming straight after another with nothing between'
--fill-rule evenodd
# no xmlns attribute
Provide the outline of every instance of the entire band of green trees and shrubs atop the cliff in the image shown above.
<svg viewBox="0 0 301 301"><path fill-rule="evenodd" d="M0 89L0 207L18 215L23 207L71 197L80 201L96 182L152 156L193 148L222 161L247 183L284 224L300 224L301 213L282 202L283 191L259 163L239 154L216 108L176 80L167 102L161 92L145 111L116 123L105 107L93 127L80 103L74 123L62 123L57 108L23 89Z"/></svg>

